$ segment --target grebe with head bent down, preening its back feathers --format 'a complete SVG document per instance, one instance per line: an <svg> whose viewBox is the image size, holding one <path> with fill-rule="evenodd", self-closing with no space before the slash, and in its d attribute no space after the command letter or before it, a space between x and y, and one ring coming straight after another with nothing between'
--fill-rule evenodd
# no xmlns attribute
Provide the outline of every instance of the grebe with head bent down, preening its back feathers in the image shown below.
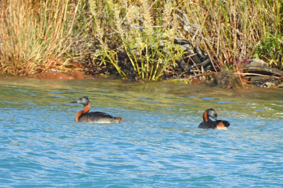
<svg viewBox="0 0 283 188"><path fill-rule="evenodd" d="M212 121L209 116L216 121ZM203 129L222 129L222 130L228 130L228 126L230 123L225 120L217 120L217 113L213 108L205 110L205 112L202 115L203 122L198 125L198 128Z"/></svg>

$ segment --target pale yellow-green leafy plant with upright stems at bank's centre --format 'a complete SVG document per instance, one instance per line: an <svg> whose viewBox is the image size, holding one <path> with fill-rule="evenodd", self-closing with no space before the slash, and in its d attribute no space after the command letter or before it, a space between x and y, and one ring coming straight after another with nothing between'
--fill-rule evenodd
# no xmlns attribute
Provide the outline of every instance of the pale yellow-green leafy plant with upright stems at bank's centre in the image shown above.
<svg viewBox="0 0 283 188"><path fill-rule="evenodd" d="M174 44L174 36L176 35L174 29L170 29L168 24L155 27L148 2L140 1L140 3L141 6L128 6L126 3L119 4L107 1L108 8L112 8L108 11L108 16L114 15L114 28L117 35L115 37L119 38L120 48L127 54L130 64L137 74L136 79L158 80L169 65L176 65L175 61L183 55L183 48ZM94 17L98 16L97 4L94 1L89 1L89 4ZM173 9L169 4L166 7L164 15L169 15L168 12ZM104 65L111 63L120 75L127 79L125 72L118 65L117 54L104 41L103 23L96 18L94 18L94 23L100 41L100 60L104 62Z"/></svg>

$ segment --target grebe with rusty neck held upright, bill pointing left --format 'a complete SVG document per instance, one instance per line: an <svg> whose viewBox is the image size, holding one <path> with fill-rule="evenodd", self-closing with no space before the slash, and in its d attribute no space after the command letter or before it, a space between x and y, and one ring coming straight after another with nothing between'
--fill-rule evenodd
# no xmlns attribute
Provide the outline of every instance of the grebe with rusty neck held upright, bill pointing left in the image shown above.
<svg viewBox="0 0 283 188"><path fill-rule="evenodd" d="M83 110L76 114L75 121L89 123L118 123L122 120L122 118L113 117L103 112L89 112L90 102L88 96L84 96L70 103L80 103L85 106Z"/></svg>

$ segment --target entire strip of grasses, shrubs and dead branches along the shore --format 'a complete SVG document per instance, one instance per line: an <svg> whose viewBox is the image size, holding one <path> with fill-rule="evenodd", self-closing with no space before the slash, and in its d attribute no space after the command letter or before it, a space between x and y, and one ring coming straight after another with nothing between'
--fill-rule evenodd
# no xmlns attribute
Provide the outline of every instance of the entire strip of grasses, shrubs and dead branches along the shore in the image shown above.
<svg viewBox="0 0 283 188"><path fill-rule="evenodd" d="M0 73L80 70L188 82L228 70L242 85L283 81L281 0L0 0L0 5Z"/></svg>

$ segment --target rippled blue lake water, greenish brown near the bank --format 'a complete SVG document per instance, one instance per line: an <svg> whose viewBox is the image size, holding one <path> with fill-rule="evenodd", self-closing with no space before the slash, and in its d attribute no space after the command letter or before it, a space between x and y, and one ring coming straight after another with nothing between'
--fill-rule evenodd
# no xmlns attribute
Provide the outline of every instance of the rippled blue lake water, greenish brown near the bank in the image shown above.
<svg viewBox="0 0 283 188"><path fill-rule="evenodd" d="M121 123L77 123L90 111ZM283 90L0 76L0 187L283 187ZM214 108L228 131L198 129Z"/></svg>

